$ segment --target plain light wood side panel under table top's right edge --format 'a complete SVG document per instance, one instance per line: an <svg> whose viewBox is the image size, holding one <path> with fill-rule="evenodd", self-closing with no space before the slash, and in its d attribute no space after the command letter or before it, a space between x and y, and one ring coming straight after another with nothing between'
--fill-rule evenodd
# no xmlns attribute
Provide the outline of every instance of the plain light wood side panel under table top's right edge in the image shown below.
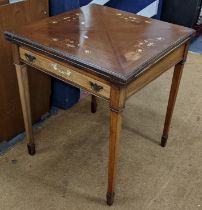
<svg viewBox="0 0 202 210"><path fill-rule="evenodd" d="M152 82L154 79L159 77L162 73L167 71L172 66L176 65L178 62L183 60L184 51L186 44L175 49L173 52L168 54L159 60L156 64L149 67L149 70L145 71L137 80L131 82L127 86L126 95L127 98L132 96L134 93L142 89L148 83Z"/></svg>

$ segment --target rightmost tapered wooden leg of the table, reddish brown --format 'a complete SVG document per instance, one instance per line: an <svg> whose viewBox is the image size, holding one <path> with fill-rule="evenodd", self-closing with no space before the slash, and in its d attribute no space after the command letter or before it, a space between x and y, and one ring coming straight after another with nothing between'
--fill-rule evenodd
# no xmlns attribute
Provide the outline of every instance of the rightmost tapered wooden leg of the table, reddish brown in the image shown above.
<svg viewBox="0 0 202 210"><path fill-rule="evenodd" d="M171 124L171 119L174 111L174 106L179 90L179 85L180 85L180 80L182 77L182 72L183 72L184 64L183 63L178 63L175 66L174 73L173 73L173 79L172 79L172 85L171 85L171 90L170 90L170 96L169 96L169 101L168 101L168 107L167 107L167 113L166 113L166 119L165 119L165 124L164 124L164 130L163 130L163 135L161 138L161 146L165 147L167 144L168 140L168 133L170 129L170 124Z"/></svg>

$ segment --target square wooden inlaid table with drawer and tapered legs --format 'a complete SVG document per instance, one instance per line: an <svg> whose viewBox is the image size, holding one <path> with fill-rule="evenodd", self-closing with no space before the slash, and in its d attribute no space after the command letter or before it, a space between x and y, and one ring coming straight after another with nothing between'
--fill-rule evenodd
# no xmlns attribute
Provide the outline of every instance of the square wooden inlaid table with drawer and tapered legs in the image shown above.
<svg viewBox="0 0 202 210"><path fill-rule="evenodd" d="M95 4L6 32L13 43L29 154L35 154L35 144L27 65L88 91L93 112L96 97L109 102L107 204L112 205L125 102L175 66L161 139L164 147L193 34L192 29Z"/></svg>

